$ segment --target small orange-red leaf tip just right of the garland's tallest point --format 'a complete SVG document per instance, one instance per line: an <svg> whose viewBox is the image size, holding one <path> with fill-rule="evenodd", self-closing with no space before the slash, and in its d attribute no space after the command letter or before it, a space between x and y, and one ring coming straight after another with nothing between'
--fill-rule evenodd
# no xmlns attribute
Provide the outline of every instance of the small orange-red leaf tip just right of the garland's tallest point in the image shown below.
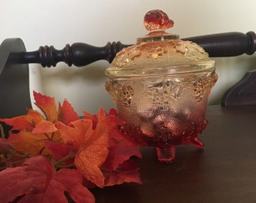
<svg viewBox="0 0 256 203"><path fill-rule="evenodd" d="M62 105L59 105L58 120L68 125L72 121L79 120L78 114L74 111L72 105L65 99Z"/></svg>

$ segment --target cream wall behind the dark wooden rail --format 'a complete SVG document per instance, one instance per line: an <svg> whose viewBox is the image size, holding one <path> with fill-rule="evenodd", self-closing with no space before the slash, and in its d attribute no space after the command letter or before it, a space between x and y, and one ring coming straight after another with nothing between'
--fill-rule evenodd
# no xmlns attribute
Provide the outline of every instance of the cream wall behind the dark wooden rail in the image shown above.
<svg viewBox="0 0 256 203"><path fill-rule="evenodd" d="M0 0L0 41L22 38L26 50L41 45L62 49L66 44L84 42L105 46L108 41L134 44L146 35L142 19L147 11L161 9L175 21L168 32L181 38L218 32L256 32L256 1L254 0ZM209 104L220 104L224 92L246 71L256 68L252 56L218 58L218 83L212 89ZM106 110L114 105L105 91L105 68L99 61L85 67L68 67L59 63L55 68L30 65L32 90L53 96L62 102L67 98L81 113L95 114L100 106Z"/></svg>

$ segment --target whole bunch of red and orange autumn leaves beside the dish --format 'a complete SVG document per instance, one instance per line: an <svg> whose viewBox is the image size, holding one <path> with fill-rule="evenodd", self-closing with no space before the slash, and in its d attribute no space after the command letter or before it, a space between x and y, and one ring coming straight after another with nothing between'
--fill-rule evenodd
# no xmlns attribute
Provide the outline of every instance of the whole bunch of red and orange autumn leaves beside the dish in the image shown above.
<svg viewBox="0 0 256 203"><path fill-rule="evenodd" d="M24 116L0 119L12 126L8 139L0 139L0 199L65 202L68 192L75 202L94 202L88 186L142 183L130 159L141 157L139 146L120 132L123 121L114 109L80 118L66 100L57 108L54 98L38 92L34 97L43 115L28 109Z"/></svg>

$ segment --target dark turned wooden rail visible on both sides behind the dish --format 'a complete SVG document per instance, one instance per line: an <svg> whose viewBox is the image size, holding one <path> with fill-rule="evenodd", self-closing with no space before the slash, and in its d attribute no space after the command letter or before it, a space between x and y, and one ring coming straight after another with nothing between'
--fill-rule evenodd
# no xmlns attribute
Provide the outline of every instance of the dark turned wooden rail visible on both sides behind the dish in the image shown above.
<svg viewBox="0 0 256 203"><path fill-rule="evenodd" d="M203 47L211 57L238 56L243 53L253 54L256 50L256 35L254 32L227 32L213 35L203 35L183 40L193 41ZM53 46L39 47L32 52L11 53L8 61L20 64L40 63L43 67L56 66L58 62L67 65L84 66L101 59L111 62L116 53L132 44L108 42L105 47L94 47L90 44L75 43L66 45L62 50Z"/></svg>

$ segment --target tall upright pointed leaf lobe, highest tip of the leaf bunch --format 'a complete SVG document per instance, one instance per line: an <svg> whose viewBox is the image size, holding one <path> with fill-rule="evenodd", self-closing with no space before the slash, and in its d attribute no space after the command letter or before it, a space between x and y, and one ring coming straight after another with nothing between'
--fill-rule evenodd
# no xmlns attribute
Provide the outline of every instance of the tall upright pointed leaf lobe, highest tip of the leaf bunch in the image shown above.
<svg viewBox="0 0 256 203"><path fill-rule="evenodd" d="M55 99L50 96L41 95L35 91L33 92L33 95L35 98L35 105L44 112L46 120L55 123L58 120L59 115L59 111L56 110Z"/></svg>

